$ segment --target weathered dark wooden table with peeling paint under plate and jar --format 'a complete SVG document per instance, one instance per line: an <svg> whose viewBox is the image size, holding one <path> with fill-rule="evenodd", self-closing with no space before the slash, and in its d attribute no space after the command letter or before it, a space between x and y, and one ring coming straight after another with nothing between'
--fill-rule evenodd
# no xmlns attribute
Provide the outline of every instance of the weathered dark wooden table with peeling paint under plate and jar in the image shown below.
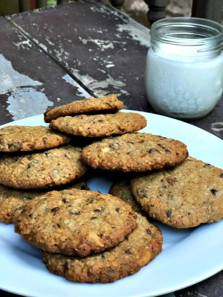
<svg viewBox="0 0 223 297"><path fill-rule="evenodd" d="M109 93L154 112L143 83L149 30L103 1L1 17L0 26L0 124ZM191 124L223 138L223 101ZM223 272L168 296L188 295L223 296Z"/></svg>

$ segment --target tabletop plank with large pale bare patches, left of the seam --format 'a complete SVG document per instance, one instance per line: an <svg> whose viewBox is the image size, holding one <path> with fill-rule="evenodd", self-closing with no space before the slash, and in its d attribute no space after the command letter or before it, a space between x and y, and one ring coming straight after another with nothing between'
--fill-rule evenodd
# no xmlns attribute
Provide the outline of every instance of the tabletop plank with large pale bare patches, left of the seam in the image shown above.
<svg viewBox="0 0 223 297"><path fill-rule="evenodd" d="M0 27L0 124L90 96L3 17Z"/></svg>

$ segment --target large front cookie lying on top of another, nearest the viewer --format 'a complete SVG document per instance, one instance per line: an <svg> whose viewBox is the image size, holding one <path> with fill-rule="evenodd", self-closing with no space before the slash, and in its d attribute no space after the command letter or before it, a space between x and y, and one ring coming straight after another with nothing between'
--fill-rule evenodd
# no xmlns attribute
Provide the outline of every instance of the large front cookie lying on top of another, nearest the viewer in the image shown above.
<svg viewBox="0 0 223 297"><path fill-rule="evenodd" d="M137 226L130 205L109 194L52 191L26 204L15 232L48 252L86 257L116 246Z"/></svg>

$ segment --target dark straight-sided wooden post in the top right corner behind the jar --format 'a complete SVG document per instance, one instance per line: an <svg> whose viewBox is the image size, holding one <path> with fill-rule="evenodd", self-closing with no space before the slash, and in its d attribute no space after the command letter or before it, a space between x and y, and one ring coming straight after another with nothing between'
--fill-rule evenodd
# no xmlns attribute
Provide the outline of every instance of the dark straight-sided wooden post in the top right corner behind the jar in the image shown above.
<svg viewBox="0 0 223 297"><path fill-rule="evenodd" d="M206 18L221 23L223 0L194 0L192 17Z"/></svg>

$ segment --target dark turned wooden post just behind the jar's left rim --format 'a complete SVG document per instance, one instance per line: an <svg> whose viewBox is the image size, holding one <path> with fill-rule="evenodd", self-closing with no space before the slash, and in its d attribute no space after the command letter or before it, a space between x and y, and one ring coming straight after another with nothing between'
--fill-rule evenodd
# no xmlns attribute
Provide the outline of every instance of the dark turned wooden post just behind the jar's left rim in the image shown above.
<svg viewBox="0 0 223 297"><path fill-rule="evenodd" d="M149 7L147 18L152 24L157 20L165 18L165 8L170 3L170 0L144 0Z"/></svg>

